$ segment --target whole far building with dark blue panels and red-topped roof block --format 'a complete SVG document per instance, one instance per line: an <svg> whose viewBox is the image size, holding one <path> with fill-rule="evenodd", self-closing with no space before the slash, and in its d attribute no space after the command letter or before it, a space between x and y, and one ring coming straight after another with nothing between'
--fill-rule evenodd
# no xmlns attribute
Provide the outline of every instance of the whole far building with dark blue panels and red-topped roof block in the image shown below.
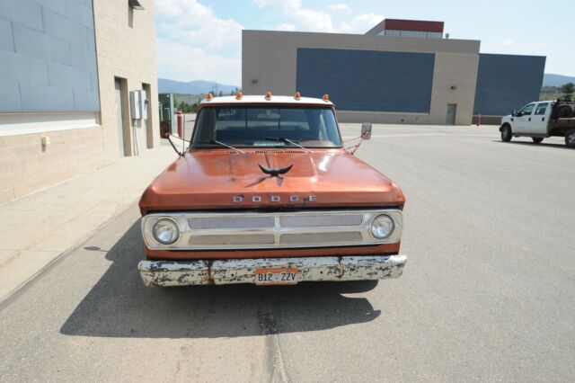
<svg viewBox="0 0 575 383"><path fill-rule="evenodd" d="M469 125L537 100L545 58L480 53L443 22L386 19L366 34L243 31L244 94L329 94L343 122ZM491 117L491 119L490 119Z"/></svg>

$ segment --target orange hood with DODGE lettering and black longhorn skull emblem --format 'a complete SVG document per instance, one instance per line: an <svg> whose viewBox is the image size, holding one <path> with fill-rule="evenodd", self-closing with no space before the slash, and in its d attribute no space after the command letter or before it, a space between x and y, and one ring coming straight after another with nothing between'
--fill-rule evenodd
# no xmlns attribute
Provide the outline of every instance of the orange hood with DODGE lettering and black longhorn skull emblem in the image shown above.
<svg viewBox="0 0 575 383"><path fill-rule="evenodd" d="M264 174L259 165L285 169ZM399 187L342 149L198 150L186 153L151 183L139 202L149 211L285 209L320 207L403 208Z"/></svg>

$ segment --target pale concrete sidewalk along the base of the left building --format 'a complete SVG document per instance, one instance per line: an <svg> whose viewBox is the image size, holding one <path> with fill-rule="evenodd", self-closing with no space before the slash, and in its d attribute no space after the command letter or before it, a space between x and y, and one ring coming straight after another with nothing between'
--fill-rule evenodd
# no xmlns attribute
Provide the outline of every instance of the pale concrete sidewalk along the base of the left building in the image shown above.
<svg viewBox="0 0 575 383"><path fill-rule="evenodd" d="M128 209L176 158L172 147L162 140L160 147L141 156L121 158L0 205L0 301L59 254Z"/></svg>

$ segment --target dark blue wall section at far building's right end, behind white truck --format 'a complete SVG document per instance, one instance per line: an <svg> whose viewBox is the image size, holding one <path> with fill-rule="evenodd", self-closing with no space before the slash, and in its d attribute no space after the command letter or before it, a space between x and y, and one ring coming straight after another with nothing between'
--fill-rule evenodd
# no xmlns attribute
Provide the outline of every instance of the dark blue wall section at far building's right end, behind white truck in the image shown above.
<svg viewBox="0 0 575 383"><path fill-rule="evenodd" d="M539 100L542 56L480 54L473 114L501 116Z"/></svg>

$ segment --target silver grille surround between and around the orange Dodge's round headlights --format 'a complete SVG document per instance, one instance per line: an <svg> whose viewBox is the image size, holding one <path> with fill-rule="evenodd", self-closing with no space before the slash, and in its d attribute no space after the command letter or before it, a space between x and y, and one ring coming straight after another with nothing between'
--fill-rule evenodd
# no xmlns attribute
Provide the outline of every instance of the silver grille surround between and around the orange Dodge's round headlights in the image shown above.
<svg viewBox="0 0 575 383"><path fill-rule="evenodd" d="M370 234L373 218L387 214L395 231L385 240ZM172 218L180 228L173 245L161 245L151 235L155 221ZM398 209L300 210L293 212L229 212L151 214L142 221L151 249L226 250L289 247L377 245L398 242L402 231Z"/></svg>

